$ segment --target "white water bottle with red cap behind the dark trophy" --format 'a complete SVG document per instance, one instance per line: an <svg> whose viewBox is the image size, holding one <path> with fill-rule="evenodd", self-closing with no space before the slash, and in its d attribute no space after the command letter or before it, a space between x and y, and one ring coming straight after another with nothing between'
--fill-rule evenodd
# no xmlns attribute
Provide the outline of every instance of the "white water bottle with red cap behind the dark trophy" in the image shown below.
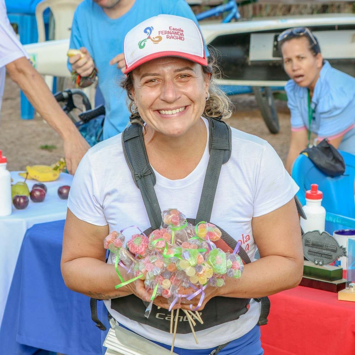
<svg viewBox="0 0 355 355"><path fill-rule="evenodd" d="M326 210L321 206L323 192L318 190L317 184L311 185L311 190L306 192L306 206L303 206L303 212L307 219L301 217L300 223L304 233L312 230L324 232L326 226Z"/></svg>

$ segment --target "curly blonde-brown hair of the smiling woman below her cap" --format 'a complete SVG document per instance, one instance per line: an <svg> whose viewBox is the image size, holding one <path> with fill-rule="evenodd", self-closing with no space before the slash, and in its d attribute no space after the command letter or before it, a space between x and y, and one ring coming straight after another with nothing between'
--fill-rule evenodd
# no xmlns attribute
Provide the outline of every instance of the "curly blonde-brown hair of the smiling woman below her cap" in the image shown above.
<svg viewBox="0 0 355 355"><path fill-rule="evenodd" d="M232 114L232 103L230 102L228 96L218 87L215 82L216 79L221 78L221 71L217 65L216 60L213 55L208 58L208 65L202 66L202 71L204 75L208 73L211 74L209 81L209 99L206 101L206 106L203 110L203 117L219 118L221 120L228 119ZM132 72L122 79L120 86L127 92L127 106L130 110L130 122L138 123L140 125L144 124L141 118L137 106L135 105L134 99L132 97L131 90L133 89L133 78Z"/></svg>

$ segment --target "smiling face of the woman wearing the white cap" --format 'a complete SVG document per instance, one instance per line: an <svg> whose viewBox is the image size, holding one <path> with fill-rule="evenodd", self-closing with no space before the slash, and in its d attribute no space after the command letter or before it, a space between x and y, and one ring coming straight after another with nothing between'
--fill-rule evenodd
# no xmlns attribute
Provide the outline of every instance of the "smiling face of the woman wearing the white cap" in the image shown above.
<svg viewBox="0 0 355 355"><path fill-rule="evenodd" d="M182 137L201 120L209 78L200 64L178 57L157 58L132 74L132 96L147 129Z"/></svg>

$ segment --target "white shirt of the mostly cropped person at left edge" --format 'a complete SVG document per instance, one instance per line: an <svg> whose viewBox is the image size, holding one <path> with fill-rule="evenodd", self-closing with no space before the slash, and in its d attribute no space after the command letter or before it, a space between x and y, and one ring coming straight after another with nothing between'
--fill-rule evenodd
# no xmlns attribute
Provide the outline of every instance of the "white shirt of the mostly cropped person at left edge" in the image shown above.
<svg viewBox="0 0 355 355"><path fill-rule="evenodd" d="M5 65L21 57L29 58L7 18L5 0L0 0L0 112L5 86Z"/></svg>

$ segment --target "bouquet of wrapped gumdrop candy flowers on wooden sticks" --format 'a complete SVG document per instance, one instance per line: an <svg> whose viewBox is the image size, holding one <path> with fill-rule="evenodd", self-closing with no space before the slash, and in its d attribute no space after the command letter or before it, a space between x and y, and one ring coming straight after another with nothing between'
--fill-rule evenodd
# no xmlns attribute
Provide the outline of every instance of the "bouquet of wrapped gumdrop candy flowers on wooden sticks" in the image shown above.
<svg viewBox="0 0 355 355"><path fill-rule="evenodd" d="M220 229L214 224L200 222L193 226L187 223L185 215L177 209L163 211L162 219L162 228L152 231L148 236L138 229L140 233L133 234L127 241L126 247L124 247L125 236L122 234L124 229L120 233L113 231L105 238L104 247L110 250L116 272L121 280L115 288L125 286L137 279L144 280L146 290L152 295L146 317L149 316L154 298L165 297L171 311L170 333L173 333L173 306L180 304L184 299L190 301L200 295L195 308L190 305L190 311L183 310L198 343L193 330L193 326L196 325L193 317L203 323L197 310L203 302L204 290L206 287L222 287L226 276L231 278L241 276L244 266L237 255L240 242L232 253L225 253L214 244L222 235ZM124 281L118 265L133 277ZM176 312L175 319L178 320L179 308Z"/></svg>

